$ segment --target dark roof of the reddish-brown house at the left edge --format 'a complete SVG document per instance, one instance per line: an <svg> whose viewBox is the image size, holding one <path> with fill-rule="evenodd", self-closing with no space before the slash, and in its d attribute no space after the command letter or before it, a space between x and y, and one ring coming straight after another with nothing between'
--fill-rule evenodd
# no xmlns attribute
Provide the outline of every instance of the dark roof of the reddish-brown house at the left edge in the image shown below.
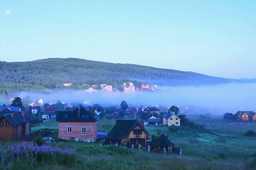
<svg viewBox="0 0 256 170"><path fill-rule="evenodd" d="M13 118L11 114L13 113ZM25 118L21 116L21 111L20 112L0 112L0 119L2 117L5 117L14 127L17 127L18 125L22 125L28 122L31 122L32 119L31 117L28 116L25 112Z"/></svg>

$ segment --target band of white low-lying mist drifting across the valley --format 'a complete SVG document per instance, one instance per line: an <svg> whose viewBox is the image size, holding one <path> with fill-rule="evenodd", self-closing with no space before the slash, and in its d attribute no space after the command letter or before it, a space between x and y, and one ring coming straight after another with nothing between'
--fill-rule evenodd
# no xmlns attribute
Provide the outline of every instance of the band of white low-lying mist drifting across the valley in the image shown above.
<svg viewBox="0 0 256 170"><path fill-rule="evenodd" d="M69 103L120 105L125 100L128 105L178 105L181 111L192 113L212 113L222 115L226 112L256 111L256 84L222 84L201 87L158 87L154 92L134 94L104 92L94 93L76 90L47 90L16 93L28 95L32 100L42 99L44 103L58 100Z"/></svg>

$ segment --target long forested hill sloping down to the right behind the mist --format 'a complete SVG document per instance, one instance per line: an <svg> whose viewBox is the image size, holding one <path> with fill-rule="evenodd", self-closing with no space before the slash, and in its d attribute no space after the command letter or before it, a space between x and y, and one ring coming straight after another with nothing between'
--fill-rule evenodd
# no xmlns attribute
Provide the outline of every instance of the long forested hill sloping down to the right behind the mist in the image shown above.
<svg viewBox="0 0 256 170"><path fill-rule="evenodd" d="M194 72L159 69L134 64L114 64L76 58L49 58L27 62L0 61L0 93L24 89L64 88L63 83L78 87L87 84L120 86L123 81L136 85L177 86L230 83L239 80L211 77Z"/></svg>

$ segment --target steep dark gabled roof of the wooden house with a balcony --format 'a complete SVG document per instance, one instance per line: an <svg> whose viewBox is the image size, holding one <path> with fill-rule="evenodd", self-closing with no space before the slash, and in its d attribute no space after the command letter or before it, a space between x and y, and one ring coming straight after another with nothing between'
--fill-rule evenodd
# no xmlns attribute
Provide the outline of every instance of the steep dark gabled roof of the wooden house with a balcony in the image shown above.
<svg viewBox="0 0 256 170"><path fill-rule="evenodd" d="M139 125L147 134L148 130L136 119L136 120L116 120L116 125L111 129L106 136L107 139L125 139L130 131Z"/></svg>

